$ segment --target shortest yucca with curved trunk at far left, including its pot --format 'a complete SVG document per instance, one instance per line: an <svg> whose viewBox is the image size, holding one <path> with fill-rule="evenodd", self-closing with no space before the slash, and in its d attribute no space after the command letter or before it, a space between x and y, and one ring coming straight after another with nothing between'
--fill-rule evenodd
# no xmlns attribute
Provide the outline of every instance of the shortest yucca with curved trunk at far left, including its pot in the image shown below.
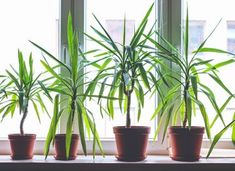
<svg viewBox="0 0 235 171"><path fill-rule="evenodd" d="M46 105L42 100L43 89L41 87L45 87L44 82L47 79L39 81L39 77L42 74L35 77L32 54L29 56L28 67L26 66L22 52L18 50L18 70L13 66L11 66L12 71L6 70L9 83L4 88L4 95L1 102L0 112L2 113L2 119L8 115L13 117L17 107L19 108L19 114L22 116L20 121L20 134L8 135L12 159L31 159L33 157L36 135L26 134L24 132L24 122L29 114L28 108L30 103L34 107L39 122L40 113L38 106L41 106L42 111L47 112ZM44 93L50 98L47 92Z"/></svg>

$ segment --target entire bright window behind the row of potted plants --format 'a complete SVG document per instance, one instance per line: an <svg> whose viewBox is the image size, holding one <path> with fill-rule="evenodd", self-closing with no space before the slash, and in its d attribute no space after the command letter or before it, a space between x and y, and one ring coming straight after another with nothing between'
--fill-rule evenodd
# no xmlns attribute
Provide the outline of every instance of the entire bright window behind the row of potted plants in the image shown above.
<svg viewBox="0 0 235 171"><path fill-rule="evenodd" d="M73 2L73 3L72 3ZM78 3L79 2L79 3ZM79 5L80 2L85 3L84 6ZM180 34L177 34L177 30L180 30L179 26L181 24L181 12L185 11L185 4L181 4L181 0L156 0L155 13L152 13L150 18L150 23L153 23L156 18L160 18L162 30L167 32L166 34L169 37L169 40L180 44ZM186 1L185 1L186 2ZM68 4L67 4L68 3ZM71 4L70 4L71 3ZM123 18L126 15L126 25L127 25L127 37L132 36L134 33L135 27L138 25L142 17L144 16L148 7L153 3L153 0L64 0L61 1L61 6L59 5L59 0L12 0L12 1L1 1L0 2L0 49L1 57L4 58L4 63L0 63L0 72L3 72L8 64L17 64L17 49L20 48L25 56L28 56L29 52L33 52L35 57L35 72L39 72L40 69L43 69L40 65L39 59L41 52L33 47L28 40L37 42L40 45L43 45L45 49L50 51L52 54L59 56L60 44L66 44L65 38L60 38L60 30L64 31L66 28L67 12L71 8L74 14L74 20L80 16L80 13L83 13L85 21L79 20L81 23L76 23L76 26L85 27L86 32L92 35L90 25L96 27L97 23L95 22L92 13L94 13L102 24L105 25L106 29L111 33L113 39L117 42L122 40L122 28L123 28ZM26 5L27 4L27 5ZM203 5L201 5L203 4ZM213 4L213 5L211 5ZM183 6L181 6L183 5ZM169 7L170 6L170 7ZM190 48L189 51L197 49L199 43L202 42L205 37L212 31L213 27L217 24L220 18L223 18L220 26L217 28L215 34L207 42L207 47L218 47L220 49L227 49L230 52L235 53L235 15L234 15L234 0L224 0L215 1L215 0L188 0L189 6L189 30L190 30ZM75 10L76 9L76 10ZM210 12L208 12L210 9ZM66 14L63 14L63 17L60 18L59 11L62 11ZM167 17L168 18L167 18ZM60 23L61 19L61 25ZM166 29L165 29L166 27ZM169 31L171 30L171 31ZM83 31L83 30L82 30ZM169 31L169 32L168 32ZM176 33L177 32L177 33ZM223 34L221 34L223 33ZM227 33L227 34L226 34ZM64 36L61 33L62 37ZM179 37L177 37L179 36ZM64 36L65 37L65 36ZM166 36L167 37L167 36ZM61 39L61 40L60 40ZM92 41L85 39L85 48L96 49L96 44ZM173 43L173 44L174 44ZM62 47L63 48L63 47ZM221 59L224 59L226 56L221 58L214 58L214 56L208 55L205 58L214 58L215 63L219 62ZM87 71L91 71L92 68L87 68ZM220 73L223 81L228 88L235 92L234 83L235 78L231 77L233 73L233 66L228 65ZM92 79L92 74L88 79ZM202 80L207 81L208 78L202 77ZM219 105L223 104L226 100L226 93L221 92L219 87L216 87L213 84L213 81L208 81L209 86L214 87L214 92L220 98L218 99ZM147 98L146 98L147 100ZM151 126L152 138L154 131L157 127L157 119L150 121L150 116L153 113L154 109L157 106L157 97L152 98L145 102L145 108L142 111L142 116L140 122L137 122L137 109L136 102L132 103L131 112L132 112L132 123L133 125L149 125ZM234 102L233 102L234 103ZM104 116L103 119L99 113L99 106L96 102L87 101L86 105L90 108L95 114L97 129L102 140L111 140L112 149L110 153L114 153L114 134L113 126L124 125L125 116L121 114L118 105L115 106L115 118L111 120L108 116ZM91 106L91 107L89 107ZM52 111L52 105L49 106L49 110ZM226 122L231 121L233 113L235 111L234 106L229 106L226 108L224 116ZM210 122L212 121L213 116L215 115L212 108L208 106L207 109L210 115ZM37 121L36 115L30 114L29 118L25 123L26 132L37 133L37 136L40 138L45 138L47 133L47 128L49 126L49 118L46 114L42 113L42 125ZM200 115L193 119L194 125L203 125L202 118ZM16 115L14 119L5 118L5 121L0 124L2 138L6 138L8 133L18 132L19 127L19 116ZM31 124L34 123L34 124ZM63 125L62 125L63 127ZM213 134L217 133L218 130L222 127L222 123L218 122L214 126ZM224 139L229 139L231 136L231 131L224 134ZM206 141L205 141L206 142ZM158 142L157 142L158 143ZM224 142L222 142L224 143ZM106 145L106 144L104 144ZM160 153L166 153L167 143L163 144L163 151L158 151ZM158 144L159 148L163 147L160 143ZM225 146L221 146L225 147ZM105 149L107 147L104 147ZM152 146L149 147L152 151L150 153L156 153L156 150L153 150ZM42 153L42 152L41 152Z"/></svg>

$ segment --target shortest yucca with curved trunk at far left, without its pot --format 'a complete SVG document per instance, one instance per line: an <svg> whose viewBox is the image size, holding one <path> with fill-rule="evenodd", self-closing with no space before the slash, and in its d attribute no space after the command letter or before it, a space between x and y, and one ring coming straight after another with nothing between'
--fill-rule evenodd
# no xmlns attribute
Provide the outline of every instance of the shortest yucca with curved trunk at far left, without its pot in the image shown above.
<svg viewBox="0 0 235 171"><path fill-rule="evenodd" d="M28 67L26 66L22 52L18 50L18 70L13 66L11 66L12 71L6 70L9 83L4 88L5 94L1 102L2 107L0 108L0 112L3 113L2 119L4 119L9 114L13 117L16 108L19 107L19 114L22 115L20 121L21 135L24 135L24 122L28 116L29 104L32 103L40 122L38 106L41 106L42 111L46 111L48 114L46 105L41 97L42 93L44 92L51 99L49 93L44 89L44 82L49 80L49 78L39 81L39 77L42 74L36 77L34 76L32 53L29 56Z"/></svg>

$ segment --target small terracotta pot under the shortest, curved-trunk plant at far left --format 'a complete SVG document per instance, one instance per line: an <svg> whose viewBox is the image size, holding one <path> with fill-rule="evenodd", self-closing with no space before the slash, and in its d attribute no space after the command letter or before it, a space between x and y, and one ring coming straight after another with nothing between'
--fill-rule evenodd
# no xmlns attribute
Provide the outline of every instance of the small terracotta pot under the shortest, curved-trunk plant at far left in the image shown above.
<svg viewBox="0 0 235 171"><path fill-rule="evenodd" d="M11 158L13 160L32 159L35 144L35 134L9 134Z"/></svg>

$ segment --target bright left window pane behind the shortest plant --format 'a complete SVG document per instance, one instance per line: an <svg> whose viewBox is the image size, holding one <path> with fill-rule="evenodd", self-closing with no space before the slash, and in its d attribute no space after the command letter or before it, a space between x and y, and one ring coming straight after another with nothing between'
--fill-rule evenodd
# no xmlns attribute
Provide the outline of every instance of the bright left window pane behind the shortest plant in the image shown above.
<svg viewBox="0 0 235 171"><path fill-rule="evenodd" d="M58 17L59 0L11 0L0 1L0 50L1 59L0 72L9 68L9 64L17 67L17 49L23 51L28 57L32 51L34 59L35 75L43 71L40 64L41 52L28 42L34 41L52 54L58 51ZM26 58L25 60L27 60ZM39 108L40 109L40 108ZM48 106L52 111L52 104ZM37 137L45 137L49 125L46 113L41 112L41 123L37 121L36 114L29 107L28 118L24 125L25 133L36 133ZM0 124L0 137L7 137L9 133L19 133L21 116L16 110L13 119L7 117Z"/></svg>

